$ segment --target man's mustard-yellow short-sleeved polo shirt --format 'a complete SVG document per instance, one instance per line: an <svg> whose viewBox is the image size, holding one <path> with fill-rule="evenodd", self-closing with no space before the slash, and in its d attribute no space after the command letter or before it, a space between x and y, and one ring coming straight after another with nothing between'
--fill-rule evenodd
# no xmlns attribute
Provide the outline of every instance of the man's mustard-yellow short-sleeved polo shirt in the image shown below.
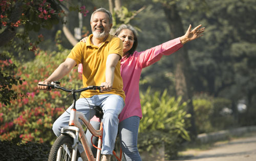
<svg viewBox="0 0 256 161"><path fill-rule="evenodd" d="M107 57L110 54L118 54L122 57L123 53L123 43L120 38L109 35L100 47L97 47L91 42L92 36L93 34L88 37L86 43L78 42L68 55L68 58L75 60L77 64L82 63L83 87L100 85L102 82L105 82ZM120 73L120 60L116 65L114 74L113 88L110 91L100 93L99 90L86 90L81 93L80 98L90 98L94 95L102 94L115 94L125 100L123 80Z"/></svg>

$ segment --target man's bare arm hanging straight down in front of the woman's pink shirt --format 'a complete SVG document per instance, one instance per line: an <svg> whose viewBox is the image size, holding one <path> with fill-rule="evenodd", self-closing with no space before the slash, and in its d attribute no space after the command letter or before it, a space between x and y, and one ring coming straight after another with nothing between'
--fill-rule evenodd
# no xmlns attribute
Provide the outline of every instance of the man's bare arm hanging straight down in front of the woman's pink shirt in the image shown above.
<svg viewBox="0 0 256 161"><path fill-rule="evenodd" d="M110 54L106 59L106 71L105 71L105 82L101 83L104 87L101 88L102 91L111 90L114 82L115 68L120 60L121 56L118 54Z"/></svg>

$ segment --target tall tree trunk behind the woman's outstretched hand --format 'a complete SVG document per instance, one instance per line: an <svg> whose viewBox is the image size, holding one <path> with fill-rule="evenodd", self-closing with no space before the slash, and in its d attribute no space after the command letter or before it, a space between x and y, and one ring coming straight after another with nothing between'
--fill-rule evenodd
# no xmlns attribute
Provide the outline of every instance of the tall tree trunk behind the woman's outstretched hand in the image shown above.
<svg viewBox="0 0 256 161"><path fill-rule="evenodd" d="M184 35L184 29L181 22L181 17L176 9L176 4L163 5L163 10L167 18L170 28L170 38L174 39ZM175 55L175 78L176 78L176 94L182 96L182 101L187 102L188 113L191 114L189 132L191 139L197 136L195 125L194 107L192 102L192 86L190 85L190 61L185 47L181 48Z"/></svg>

